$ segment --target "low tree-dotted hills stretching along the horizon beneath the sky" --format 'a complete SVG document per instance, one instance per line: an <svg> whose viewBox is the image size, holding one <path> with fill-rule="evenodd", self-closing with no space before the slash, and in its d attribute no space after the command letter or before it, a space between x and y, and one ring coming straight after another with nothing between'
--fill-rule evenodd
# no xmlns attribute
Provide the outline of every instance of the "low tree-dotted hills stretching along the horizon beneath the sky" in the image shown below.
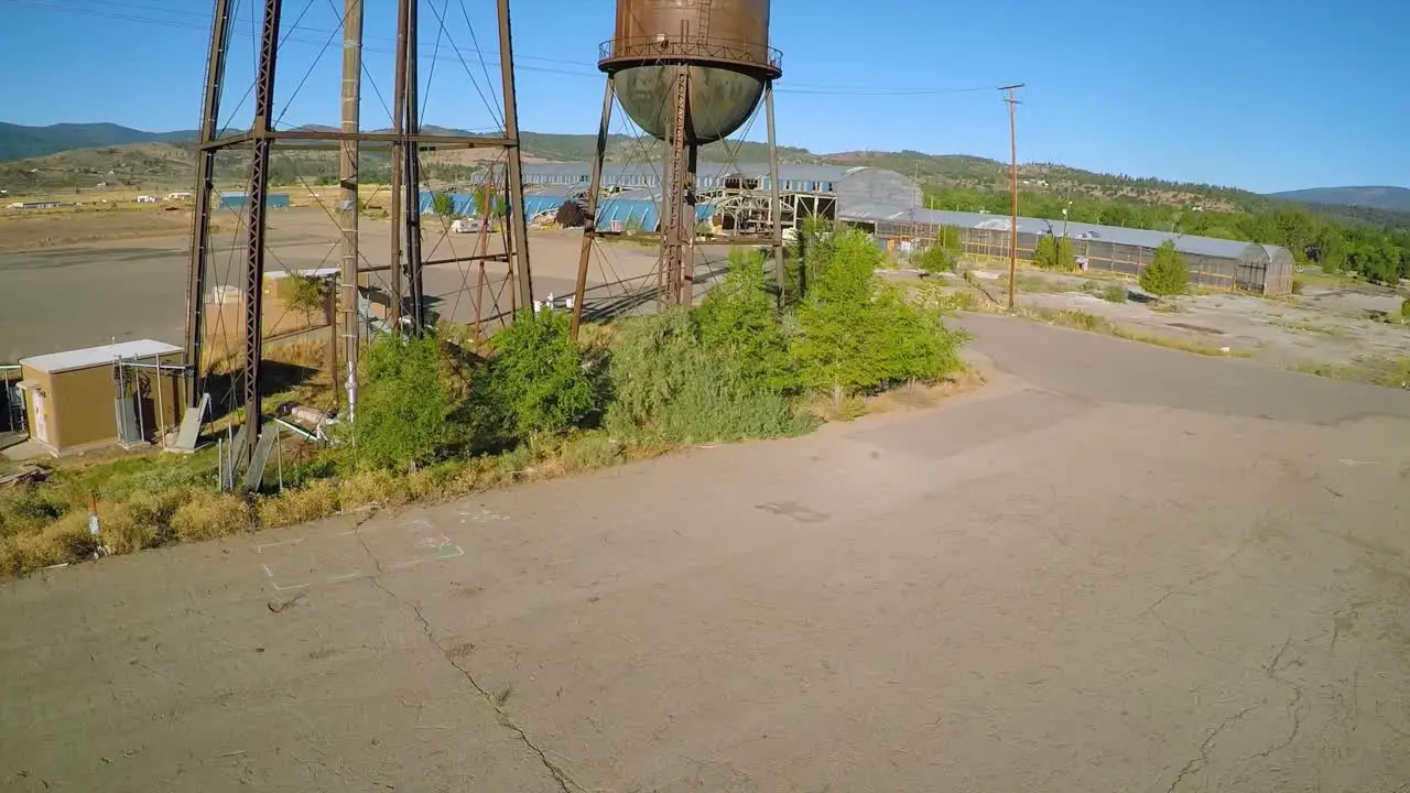
<svg viewBox="0 0 1410 793"><path fill-rule="evenodd" d="M326 126L305 128L331 130ZM471 134L434 126L427 126L423 131ZM148 133L117 124L0 124L0 190L18 196L87 190L99 185L135 190L190 189L195 138L196 133L190 130ZM596 135L592 134L526 131L522 133L522 141L529 161L584 162L592 158L596 148ZM661 162L666 150L660 141L613 134L608 138L606 154L615 162ZM245 150L238 150L219 158L217 179L230 185L247 179L247 157ZM702 162L766 162L767 158L768 148L760 143L711 144L701 150ZM890 168L915 178L928 190L962 189L987 195L1008 192L1008 164L983 157L909 150L815 154L807 148L781 145L780 159L787 164ZM423 159L424 175L440 183L465 182L484 167L482 161L481 150L427 152ZM281 185L330 185L337 181L337 154L288 147L275 157L272 168L272 178ZM389 179L386 154L364 151L361 175L367 182ZM1166 206L1179 212L1251 213L1286 209L1289 202L1297 202L1325 217L1410 229L1410 190L1404 188L1330 188L1265 196L1218 185L1096 174L1050 162L1022 164L1018 178L1022 192L1063 200Z"/></svg>

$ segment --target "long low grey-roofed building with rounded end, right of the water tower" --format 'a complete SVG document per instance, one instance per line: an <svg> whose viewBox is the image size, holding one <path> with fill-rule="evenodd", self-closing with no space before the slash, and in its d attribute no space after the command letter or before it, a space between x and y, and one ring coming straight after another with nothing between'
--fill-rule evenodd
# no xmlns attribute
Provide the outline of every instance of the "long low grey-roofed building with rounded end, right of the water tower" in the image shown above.
<svg viewBox="0 0 1410 793"><path fill-rule="evenodd" d="M878 202L852 203L846 210L839 209L838 217L887 240L935 240L940 227L957 229L966 254L1008 258L1011 223L1005 216ZM1031 261L1039 238L1063 234L1072 240L1079 265L1087 270L1139 275L1155 250L1170 240L1184 257L1194 284L1265 295L1286 295L1293 289L1293 254L1287 248L1172 231L1019 217L1018 258Z"/></svg>

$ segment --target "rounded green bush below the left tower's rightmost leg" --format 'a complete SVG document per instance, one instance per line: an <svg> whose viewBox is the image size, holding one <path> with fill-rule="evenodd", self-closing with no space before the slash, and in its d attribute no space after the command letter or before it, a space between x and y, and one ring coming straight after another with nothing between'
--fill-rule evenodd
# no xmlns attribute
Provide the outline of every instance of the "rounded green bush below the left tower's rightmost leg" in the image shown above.
<svg viewBox="0 0 1410 793"><path fill-rule="evenodd" d="M596 409L568 315L523 310L494 339L495 354L475 378L472 402L496 440L526 442L578 426ZM486 426L486 425L481 425Z"/></svg>

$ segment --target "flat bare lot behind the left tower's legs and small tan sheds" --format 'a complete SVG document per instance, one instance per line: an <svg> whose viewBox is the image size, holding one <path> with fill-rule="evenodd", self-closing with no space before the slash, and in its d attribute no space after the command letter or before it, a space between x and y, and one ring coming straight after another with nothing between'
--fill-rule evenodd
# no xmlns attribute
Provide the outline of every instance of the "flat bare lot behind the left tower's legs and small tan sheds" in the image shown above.
<svg viewBox="0 0 1410 793"><path fill-rule="evenodd" d="M114 217L127 212L111 213ZM182 213L162 213L165 217ZM227 213L228 214L228 213ZM39 219L35 219L39 220ZM11 220L13 222L13 220ZM226 227L214 237L209 274L210 286L235 285L243 275L243 238L234 216L217 214ZM85 243L44 250L0 253L0 361L18 360L75 347L107 344L114 339L157 339L179 344L185 327L188 220L179 234L133 241ZM364 217L361 254L364 267L386 267L391 226ZM0 223L0 229L4 223ZM572 293L578 270L581 233L530 231L530 261L534 291L540 299ZM446 234L434 217L427 217L424 258L447 258L475 251L475 234ZM337 267L338 230L321 206L275 212L269 220L266 270ZM502 250L498 238L492 251ZM698 277L718 275L725 253L701 248ZM644 246L599 246L589 265L589 306L615 303L623 288L619 281L643 284L656 267L656 251ZM386 286L388 274L374 274L374 284ZM426 268L426 293L433 310L468 323L474 316L478 268L433 265ZM509 308L503 292L503 268L488 271L484 298L491 313L494 295ZM634 281L633 281L634 279ZM207 289L209 293L209 289Z"/></svg>

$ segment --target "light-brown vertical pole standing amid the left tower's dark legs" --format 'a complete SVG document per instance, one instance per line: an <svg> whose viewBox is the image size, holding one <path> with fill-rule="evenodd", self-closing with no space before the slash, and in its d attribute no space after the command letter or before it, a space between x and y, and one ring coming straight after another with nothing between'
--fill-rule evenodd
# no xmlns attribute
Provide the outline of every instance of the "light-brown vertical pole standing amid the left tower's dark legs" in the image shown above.
<svg viewBox="0 0 1410 793"><path fill-rule="evenodd" d="M357 135L361 131L362 107L362 0L343 3L343 128L341 152L338 155L338 185L341 195L343 226L343 387L347 389L347 420L357 415L357 364L361 341L361 319L358 317L358 155L361 147ZM334 303L336 305L336 303ZM337 323L334 315L329 320ZM333 382L337 382L334 373Z"/></svg>

